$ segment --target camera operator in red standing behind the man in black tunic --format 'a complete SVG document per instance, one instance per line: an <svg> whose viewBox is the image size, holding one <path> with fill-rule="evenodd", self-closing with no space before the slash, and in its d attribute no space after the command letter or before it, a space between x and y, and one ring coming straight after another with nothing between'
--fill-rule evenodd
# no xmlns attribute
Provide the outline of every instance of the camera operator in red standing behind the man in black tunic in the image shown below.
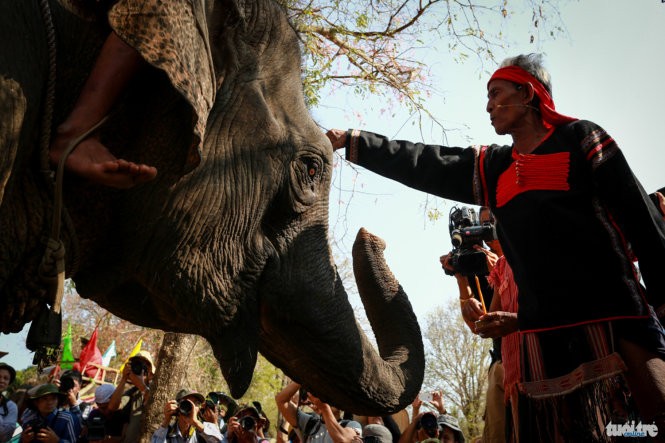
<svg viewBox="0 0 665 443"><path fill-rule="evenodd" d="M464 237L456 243L454 235L459 231L469 229L469 227L472 229L468 232L472 234L478 232L478 235ZM480 229L480 227L486 229ZM499 257L503 256L503 249L495 235L494 217L487 207L480 208L478 220L475 220L475 211L473 209L467 207L459 209L454 207L451 210L450 232L453 245L456 245L458 249L448 255L442 256L440 259L441 265L446 274L454 275L457 280L462 318L469 329L474 334L477 334L479 331L476 329L476 322L487 314L485 309L489 308L493 303L494 291L489 285L487 275L492 272ZM489 247L489 250L483 248L483 241ZM462 259L455 260L455 254L458 254L457 257L460 257L460 254L462 254L462 257L476 254L476 259L466 261ZM484 262L482 258L484 258ZM479 289L478 286L480 287ZM481 300L484 301L485 305L476 298L480 298L481 295ZM479 335L483 338L486 337L484 333ZM505 441L506 413L503 386L504 371L501 362L501 338L498 336L492 338L490 355L492 360L488 372L483 439L501 442Z"/></svg>

